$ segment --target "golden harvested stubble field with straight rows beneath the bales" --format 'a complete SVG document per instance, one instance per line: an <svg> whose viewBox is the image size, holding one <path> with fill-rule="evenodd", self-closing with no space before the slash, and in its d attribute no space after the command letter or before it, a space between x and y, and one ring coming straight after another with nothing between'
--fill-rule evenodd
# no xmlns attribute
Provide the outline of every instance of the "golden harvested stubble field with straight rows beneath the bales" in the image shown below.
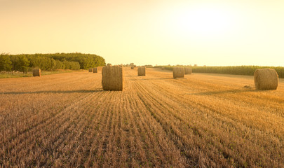
<svg viewBox="0 0 284 168"><path fill-rule="evenodd" d="M88 71L0 79L0 165L284 167L283 79L123 71L122 92Z"/></svg>

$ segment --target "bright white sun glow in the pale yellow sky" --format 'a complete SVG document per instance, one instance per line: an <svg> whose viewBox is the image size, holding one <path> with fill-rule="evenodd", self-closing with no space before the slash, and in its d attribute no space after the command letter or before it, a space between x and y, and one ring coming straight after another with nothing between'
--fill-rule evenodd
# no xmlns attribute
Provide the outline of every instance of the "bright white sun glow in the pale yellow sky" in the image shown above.
<svg viewBox="0 0 284 168"><path fill-rule="evenodd" d="M238 18L225 6L182 6L168 16L168 27L182 36L216 37L238 31Z"/></svg>

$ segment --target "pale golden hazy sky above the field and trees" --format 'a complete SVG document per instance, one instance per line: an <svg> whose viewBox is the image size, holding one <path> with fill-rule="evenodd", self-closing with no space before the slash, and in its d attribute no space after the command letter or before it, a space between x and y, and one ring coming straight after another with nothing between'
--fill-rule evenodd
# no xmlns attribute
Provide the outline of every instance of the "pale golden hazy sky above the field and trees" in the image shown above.
<svg viewBox="0 0 284 168"><path fill-rule="evenodd" d="M0 52L284 66L282 0L0 0Z"/></svg>

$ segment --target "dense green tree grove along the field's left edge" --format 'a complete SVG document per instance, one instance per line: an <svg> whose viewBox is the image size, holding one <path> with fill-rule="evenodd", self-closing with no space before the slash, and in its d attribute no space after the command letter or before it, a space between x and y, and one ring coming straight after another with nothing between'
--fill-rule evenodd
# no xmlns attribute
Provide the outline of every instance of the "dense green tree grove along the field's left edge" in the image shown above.
<svg viewBox="0 0 284 168"><path fill-rule="evenodd" d="M103 57L92 54L76 53L55 53L55 54L21 54L21 55L0 55L0 71L32 71L39 68L43 71L55 69L88 69L97 66L104 66Z"/></svg>

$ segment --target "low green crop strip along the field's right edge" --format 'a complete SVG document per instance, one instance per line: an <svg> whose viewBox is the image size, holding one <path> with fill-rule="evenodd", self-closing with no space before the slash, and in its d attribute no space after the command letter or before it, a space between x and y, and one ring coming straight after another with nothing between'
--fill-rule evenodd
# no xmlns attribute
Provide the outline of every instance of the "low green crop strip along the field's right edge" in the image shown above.
<svg viewBox="0 0 284 168"><path fill-rule="evenodd" d="M155 68L163 68L173 70L175 66L155 66ZM275 69L279 78L284 78L284 67L282 66L182 66L189 67L194 73L223 73L232 75L253 76L255 70L270 68Z"/></svg>

